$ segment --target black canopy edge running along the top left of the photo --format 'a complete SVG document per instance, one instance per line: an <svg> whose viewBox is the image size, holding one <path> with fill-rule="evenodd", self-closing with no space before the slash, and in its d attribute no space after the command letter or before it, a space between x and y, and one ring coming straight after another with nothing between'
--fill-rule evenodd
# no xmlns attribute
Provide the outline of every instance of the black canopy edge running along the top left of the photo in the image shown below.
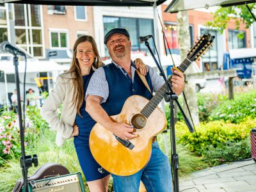
<svg viewBox="0 0 256 192"><path fill-rule="evenodd" d="M84 5L84 6L153 6L166 0L0 0L0 3Z"/></svg>

